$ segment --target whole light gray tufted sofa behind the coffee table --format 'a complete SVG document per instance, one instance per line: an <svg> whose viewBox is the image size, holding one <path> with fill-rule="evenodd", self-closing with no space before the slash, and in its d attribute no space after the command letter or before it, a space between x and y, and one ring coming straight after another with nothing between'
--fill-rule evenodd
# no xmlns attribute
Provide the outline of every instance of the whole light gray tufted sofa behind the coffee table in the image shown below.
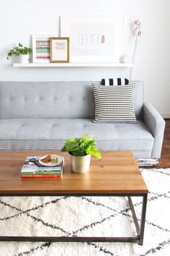
<svg viewBox="0 0 170 256"><path fill-rule="evenodd" d="M160 158L164 119L143 103L143 82L133 82L137 124L93 123L92 82L0 82L0 150L60 150L88 134L99 150Z"/></svg>

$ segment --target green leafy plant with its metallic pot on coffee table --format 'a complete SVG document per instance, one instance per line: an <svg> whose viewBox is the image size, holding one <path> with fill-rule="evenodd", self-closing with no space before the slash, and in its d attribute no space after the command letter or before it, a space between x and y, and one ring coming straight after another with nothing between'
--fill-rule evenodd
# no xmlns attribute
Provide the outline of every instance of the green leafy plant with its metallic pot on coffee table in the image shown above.
<svg viewBox="0 0 170 256"><path fill-rule="evenodd" d="M67 140L61 151L70 154L71 170L76 173L89 171L91 155L102 158L101 153L96 149L96 141L88 135Z"/></svg>

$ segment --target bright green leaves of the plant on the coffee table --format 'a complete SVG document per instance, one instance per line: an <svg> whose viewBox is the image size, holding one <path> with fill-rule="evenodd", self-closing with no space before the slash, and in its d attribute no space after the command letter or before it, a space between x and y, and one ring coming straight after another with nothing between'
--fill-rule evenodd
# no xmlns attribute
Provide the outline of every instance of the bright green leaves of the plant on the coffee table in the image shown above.
<svg viewBox="0 0 170 256"><path fill-rule="evenodd" d="M96 149L96 141L88 135L67 140L61 151L76 156L95 155L99 159L102 158L101 153Z"/></svg>

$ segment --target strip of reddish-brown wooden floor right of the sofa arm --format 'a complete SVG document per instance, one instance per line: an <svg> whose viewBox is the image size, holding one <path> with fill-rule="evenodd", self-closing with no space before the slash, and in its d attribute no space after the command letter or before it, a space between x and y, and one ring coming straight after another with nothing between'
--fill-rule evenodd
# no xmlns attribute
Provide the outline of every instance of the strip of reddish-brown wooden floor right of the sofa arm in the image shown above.
<svg viewBox="0 0 170 256"><path fill-rule="evenodd" d="M161 159L159 159L159 163L156 165L156 168L170 168L170 119L165 119L165 121L166 127Z"/></svg>

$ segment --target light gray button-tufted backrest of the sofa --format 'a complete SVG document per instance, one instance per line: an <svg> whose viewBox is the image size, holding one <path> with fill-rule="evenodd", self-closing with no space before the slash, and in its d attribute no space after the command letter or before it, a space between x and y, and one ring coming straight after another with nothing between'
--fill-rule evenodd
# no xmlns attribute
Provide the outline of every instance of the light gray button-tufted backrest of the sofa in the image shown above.
<svg viewBox="0 0 170 256"><path fill-rule="evenodd" d="M92 82L0 82L0 119L94 118ZM93 83L99 83L94 82ZM136 82L141 117L143 82Z"/></svg>

